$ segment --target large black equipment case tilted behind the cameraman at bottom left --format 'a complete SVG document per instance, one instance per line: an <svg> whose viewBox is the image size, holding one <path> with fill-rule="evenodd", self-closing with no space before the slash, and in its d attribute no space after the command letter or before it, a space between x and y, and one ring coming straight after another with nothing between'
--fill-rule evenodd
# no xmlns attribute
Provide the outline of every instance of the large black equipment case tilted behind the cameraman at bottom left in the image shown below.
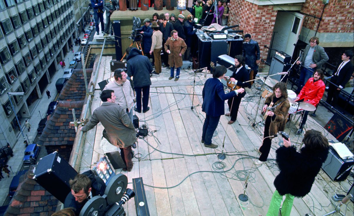
<svg viewBox="0 0 354 216"><path fill-rule="evenodd" d="M58 152L39 159L33 179L55 198L64 203L71 192L69 180L78 174Z"/></svg>

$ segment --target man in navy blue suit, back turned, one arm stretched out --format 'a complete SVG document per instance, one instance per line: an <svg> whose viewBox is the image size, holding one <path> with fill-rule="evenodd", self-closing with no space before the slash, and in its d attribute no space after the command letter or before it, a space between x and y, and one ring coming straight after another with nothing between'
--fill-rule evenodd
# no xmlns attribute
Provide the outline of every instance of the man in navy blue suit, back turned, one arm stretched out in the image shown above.
<svg viewBox="0 0 354 216"><path fill-rule="evenodd" d="M218 145L211 143L214 131L218 126L220 116L224 114L224 101L244 92L239 89L225 94L221 79L224 78L227 69L224 66L217 66L213 69L213 78L206 80L202 92L203 104L202 111L205 112L205 120L203 124L203 133L201 135L201 143L205 147L217 148Z"/></svg>

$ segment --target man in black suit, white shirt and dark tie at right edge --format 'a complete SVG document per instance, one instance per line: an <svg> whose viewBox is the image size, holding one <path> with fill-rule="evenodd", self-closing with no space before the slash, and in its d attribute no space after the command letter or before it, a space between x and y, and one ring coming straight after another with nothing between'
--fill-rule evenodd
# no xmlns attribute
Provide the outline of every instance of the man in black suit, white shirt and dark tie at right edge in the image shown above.
<svg viewBox="0 0 354 216"><path fill-rule="evenodd" d="M346 86L350 76L353 74L353 63L350 61L352 58L353 51L345 51L342 55L343 62L339 63L335 72L332 74L331 84L329 85L326 100L326 102L332 106L337 104L339 92L341 92L341 89Z"/></svg>

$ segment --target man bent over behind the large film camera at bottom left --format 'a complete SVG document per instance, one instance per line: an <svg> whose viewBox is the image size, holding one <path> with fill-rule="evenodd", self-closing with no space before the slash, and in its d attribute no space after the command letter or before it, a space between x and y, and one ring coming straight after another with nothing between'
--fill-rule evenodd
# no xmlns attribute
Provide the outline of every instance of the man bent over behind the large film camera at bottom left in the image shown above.
<svg viewBox="0 0 354 216"><path fill-rule="evenodd" d="M75 176L69 181L71 192L64 201L64 208L74 208L75 215L79 215L82 207L92 197L102 196L106 185L103 180L95 176L92 170Z"/></svg>

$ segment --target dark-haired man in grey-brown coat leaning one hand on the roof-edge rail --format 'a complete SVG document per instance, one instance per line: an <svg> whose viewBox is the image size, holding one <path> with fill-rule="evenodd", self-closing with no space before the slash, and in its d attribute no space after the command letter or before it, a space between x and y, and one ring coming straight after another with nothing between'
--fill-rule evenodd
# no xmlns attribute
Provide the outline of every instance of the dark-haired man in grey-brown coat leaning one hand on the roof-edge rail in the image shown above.
<svg viewBox="0 0 354 216"><path fill-rule="evenodd" d="M126 110L115 103L113 90L103 90L100 97L104 103L93 111L90 121L81 127L81 130L83 132L91 130L101 122L104 127L104 138L120 148L120 155L130 172L133 168L131 145L136 141L134 125Z"/></svg>

